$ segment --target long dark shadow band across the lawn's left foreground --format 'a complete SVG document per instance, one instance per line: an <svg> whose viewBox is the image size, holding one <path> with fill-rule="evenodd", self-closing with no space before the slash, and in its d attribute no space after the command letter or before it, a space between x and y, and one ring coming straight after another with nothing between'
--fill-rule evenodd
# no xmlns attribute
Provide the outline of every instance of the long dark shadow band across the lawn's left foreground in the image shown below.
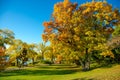
<svg viewBox="0 0 120 80"><path fill-rule="evenodd" d="M19 75L32 75L32 76L41 76L41 75L65 75L65 74L72 74L78 72L79 70L13 70L13 71L6 71L1 72L1 77L7 76L19 76Z"/></svg>

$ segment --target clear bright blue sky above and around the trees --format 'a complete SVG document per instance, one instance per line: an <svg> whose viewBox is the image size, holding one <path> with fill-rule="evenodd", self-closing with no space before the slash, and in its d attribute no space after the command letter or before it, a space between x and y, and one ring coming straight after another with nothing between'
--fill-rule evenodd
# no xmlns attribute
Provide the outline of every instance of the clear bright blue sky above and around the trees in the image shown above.
<svg viewBox="0 0 120 80"><path fill-rule="evenodd" d="M55 3L63 0L0 0L0 29L10 29L16 39L42 42L43 22L49 21ZM79 4L91 0L70 0ZM107 0L120 9L120 0Z"/></svg>

